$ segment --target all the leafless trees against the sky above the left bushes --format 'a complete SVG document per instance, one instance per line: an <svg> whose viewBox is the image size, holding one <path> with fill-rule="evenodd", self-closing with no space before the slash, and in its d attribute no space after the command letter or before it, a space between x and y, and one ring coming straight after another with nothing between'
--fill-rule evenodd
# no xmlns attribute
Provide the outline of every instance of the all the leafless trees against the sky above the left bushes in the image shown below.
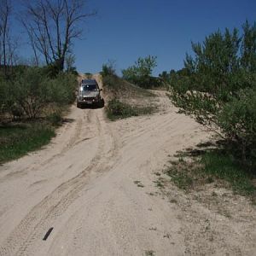
<svg viewBox="0 0 256 256"><path fill-rule="evenodd" d="M18 15L17 15L18 14ZM81 25L96 12L87 12L85 1L35 0L0 1L0 67L5 77L22 62L32 66L49 66L55 72L74 71L73 42L81 36ZM13 27L20 29L20 38ZM32 56L22 60L19 52L28 44Z"/></svg>

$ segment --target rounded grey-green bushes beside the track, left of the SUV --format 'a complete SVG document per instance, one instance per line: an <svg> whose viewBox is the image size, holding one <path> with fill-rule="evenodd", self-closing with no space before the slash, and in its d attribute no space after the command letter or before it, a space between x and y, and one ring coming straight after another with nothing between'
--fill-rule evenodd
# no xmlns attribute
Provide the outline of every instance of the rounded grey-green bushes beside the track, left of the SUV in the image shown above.
<svg viewBox="0 0 256 256"><path fill-rule="evenodd" d="M38 118L51 103L72 103L76 84L76 77L71 73L61 73L55 79L49 79L44 68L26 67L14 78L0 80L1 110L14 117Z"/></svg>

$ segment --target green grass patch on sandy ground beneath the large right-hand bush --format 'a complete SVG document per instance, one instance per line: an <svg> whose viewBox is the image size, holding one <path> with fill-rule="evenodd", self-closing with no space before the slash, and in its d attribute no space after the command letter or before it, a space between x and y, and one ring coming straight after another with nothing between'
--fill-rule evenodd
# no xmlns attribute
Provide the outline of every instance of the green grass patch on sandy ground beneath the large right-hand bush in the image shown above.
<svg viewBox="0 0 256 256"><path fill-rule="evenodd" d="M224 154L223 150L210 150L201 156L189 158L187 162L184 158L181 161L177 156L177 160L172 160L171 166L165 171L179 189L189 190L207 183L215 183L214 185L231 188L239 195L256 200L256 187L253 184L255 177L246 172L229 154Z"/></svg>

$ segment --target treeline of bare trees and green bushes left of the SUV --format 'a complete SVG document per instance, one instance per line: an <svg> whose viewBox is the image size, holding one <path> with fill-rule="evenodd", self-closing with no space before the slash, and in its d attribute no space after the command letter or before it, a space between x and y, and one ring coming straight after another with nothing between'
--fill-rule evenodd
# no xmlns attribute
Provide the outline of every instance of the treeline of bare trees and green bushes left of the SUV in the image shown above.
<svg viewBox="0 0 256 256"><path fill-rule="evenodd" d="M80 0L0 2L1 119L37 119L49 106L73 102L78 74L73 42L82 33L79 25L91 15L95 13L88 13ZM15 35L14 24L25 39ZM21 61L24 44L30 45L32 56Z"/></svg>

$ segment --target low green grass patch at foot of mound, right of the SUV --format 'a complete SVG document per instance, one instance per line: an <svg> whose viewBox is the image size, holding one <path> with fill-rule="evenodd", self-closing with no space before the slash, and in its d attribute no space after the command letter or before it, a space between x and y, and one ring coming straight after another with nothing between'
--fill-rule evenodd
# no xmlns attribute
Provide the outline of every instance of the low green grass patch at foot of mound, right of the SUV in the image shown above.
<svg viewBox="0 0 256 256"><path fill-rule="evenodd" d="M135 107L130 104L120 102L118 99L113 99L108 102L107 115L108 119L125 119L131 116L153 113L153 107Z"/></svg>

